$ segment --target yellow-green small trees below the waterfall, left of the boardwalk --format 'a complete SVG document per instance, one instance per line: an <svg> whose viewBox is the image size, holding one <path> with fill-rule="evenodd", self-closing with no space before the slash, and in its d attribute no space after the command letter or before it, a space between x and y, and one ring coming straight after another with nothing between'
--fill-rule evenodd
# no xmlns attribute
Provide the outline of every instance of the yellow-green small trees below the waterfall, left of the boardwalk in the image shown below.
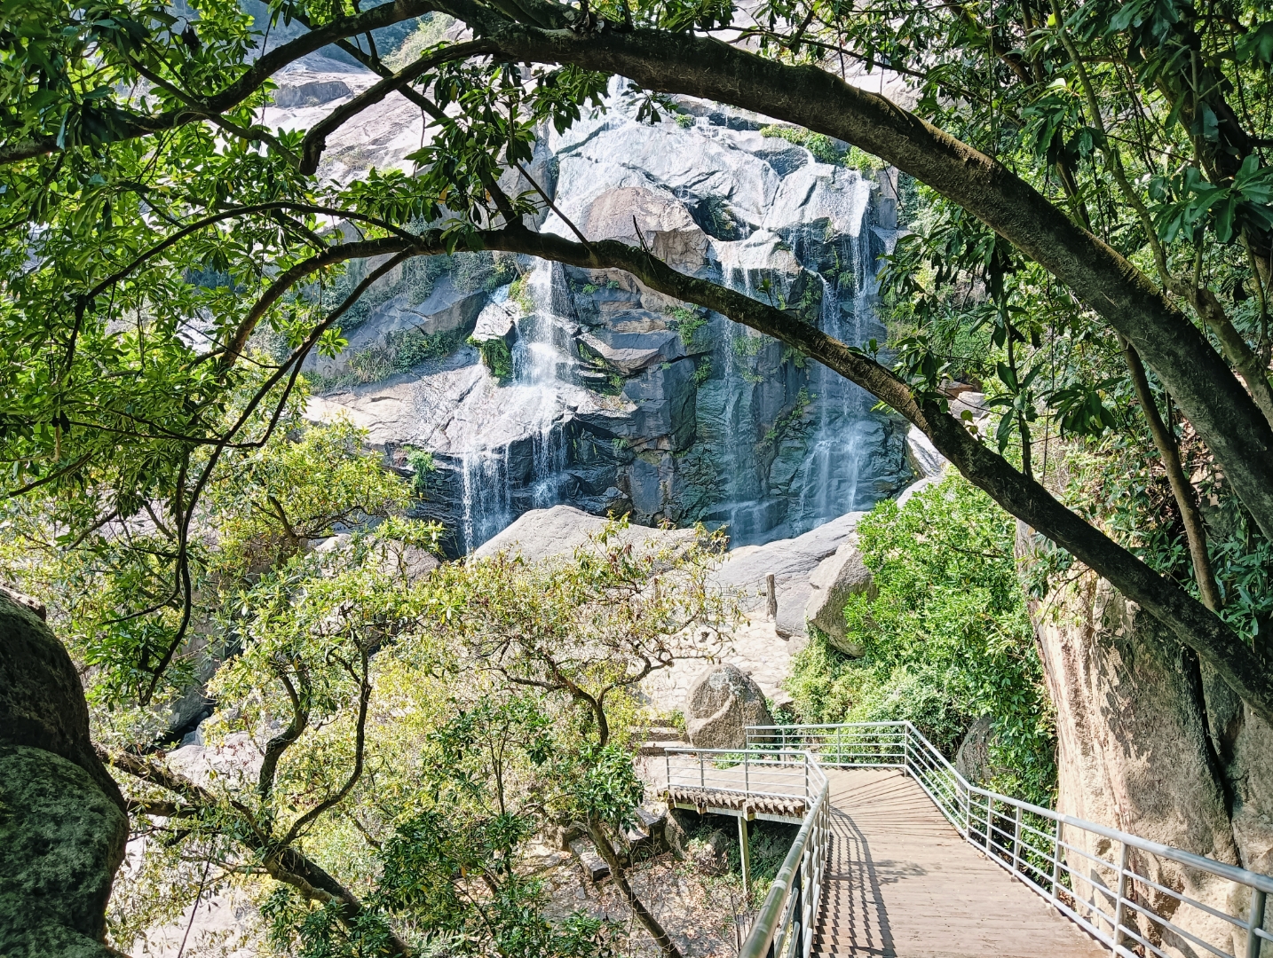
<svg viewBox="0 0 1273 958"><path fill-rule="evenodd" d="M391 517L339 551L294 555L224 603L216 627L236 654L209 693L234 709L204 734L228 746L267 721L276 732L260 772L177 795L193 810L117 882L129 915L113 929L145 927L174 898L179 913L202 887L181 878L187 861L211 855L225 866L209 882L241 870L283 954L378 955L395 934L423 953L614 952L624 929L560 915L527 873L527 842L563 824L620 841L644 794L636 683L718 654L736 621L708 585L719 539L700 531L673 550L614 523L573 559L538 565L496 556L412 579L393 561L398 545L439 532ZM171 794L140 776L125 788ZM356 893L356 913L274 883L266 871L279 874L286 849Z"/></svg>

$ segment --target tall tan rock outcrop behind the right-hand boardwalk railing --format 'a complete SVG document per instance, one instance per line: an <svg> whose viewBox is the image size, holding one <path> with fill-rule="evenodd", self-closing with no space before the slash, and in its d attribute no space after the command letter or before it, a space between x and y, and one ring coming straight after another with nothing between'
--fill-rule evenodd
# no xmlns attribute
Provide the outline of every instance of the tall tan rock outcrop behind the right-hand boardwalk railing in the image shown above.
<svg viewBox="0 0 1273 958"><path fill-rule="evenodd" d="M1018 551L1029 552L1022 539ZM1269 869L1273 846L1273 735L1199 668L1194 653L1109 583L1086 573L1034 603L1031 617L1057 709L1057 808L1185 851ZM1067 831L1088 855L1109 842ZM1069 864L1097 884L1109 868L1078 852ZM1245 917L1245 892L1228 882L1143 855L1142 873L1207 906ZM1155 897L1155 902L1157 897ZM1151 902L1151 903L1155 903ZM1162 905L1171 911L1165 896ZM1174 919L1190 934L1241 954L1245 935L1197 910ZM1194 955L1186 940L1142 922L1167 954Z"/></svg>

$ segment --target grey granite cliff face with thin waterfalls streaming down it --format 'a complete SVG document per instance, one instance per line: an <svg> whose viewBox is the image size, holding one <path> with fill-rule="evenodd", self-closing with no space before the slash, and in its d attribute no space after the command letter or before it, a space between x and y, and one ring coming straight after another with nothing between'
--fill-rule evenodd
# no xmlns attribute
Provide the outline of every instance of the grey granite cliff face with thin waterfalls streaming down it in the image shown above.
<svg viewBox="0 0 1273 958"><path fill-rule="evenodd" d="M313 97L339 92L327 76L297 79ZM819 162L763 135L764 118L710 104L686 99L639 123L616 84L606 107L541 136L528 173L556 211L538 229L644 243L852 344L883 338L873 277L896 235L886 173ZM381 121L367 121L373 144ZM377 149L369 163L401 156ZM332 174L349 176L349 162L337 150ZM630 276L475 254L411 270L373 289L342 355L312 360L327 388L311 411L367 426L396 466L430 452L419 511L456 531L456 553L558 503L764 542L867 509L913 475L905 431L864 392ZM446 355L406 368L409 337ZM372 356L383 375L367 371Z"/></svg>

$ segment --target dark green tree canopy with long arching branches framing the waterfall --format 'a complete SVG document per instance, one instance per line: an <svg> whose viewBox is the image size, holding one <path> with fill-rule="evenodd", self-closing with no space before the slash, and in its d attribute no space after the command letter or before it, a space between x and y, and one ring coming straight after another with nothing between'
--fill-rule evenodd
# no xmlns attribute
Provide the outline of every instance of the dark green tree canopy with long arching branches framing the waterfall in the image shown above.
<svg viewBox="0 0 1273 958"><path fill-rule="evenodd" d="M460 38L391 66L376 32L426 14ZM382 80L309 130L265 128L271 76L331 45ZM8 492L47 496L67 542L148 510L172 532L155 553L168 617L116 665L167 668L201 501L229 454L271 439L358 296L412 257L502 249L628 271L864 385L1057 562L1108 578L1273 716L1250 588L1273 537L1262 5L289 0L253 19L232 0L9 0L0 48ZM903 78L913 108L854 85L863 70ZM928 216L887 267L896 365L643 248L526 225L549 197L510 170L615 75L652 122L666 94L714 99L924 184ZM430 122L415 174L317 177L325 139L391 93ZM342 285L355 260L365 276ZM272 352L253 340L266 332ZM948 413L952 373L990 392L995 435ZM1048 471L1058 435L1097 471L1139 457L1161 508L1124 509L1128 528L1087 508Z"/></svg>

